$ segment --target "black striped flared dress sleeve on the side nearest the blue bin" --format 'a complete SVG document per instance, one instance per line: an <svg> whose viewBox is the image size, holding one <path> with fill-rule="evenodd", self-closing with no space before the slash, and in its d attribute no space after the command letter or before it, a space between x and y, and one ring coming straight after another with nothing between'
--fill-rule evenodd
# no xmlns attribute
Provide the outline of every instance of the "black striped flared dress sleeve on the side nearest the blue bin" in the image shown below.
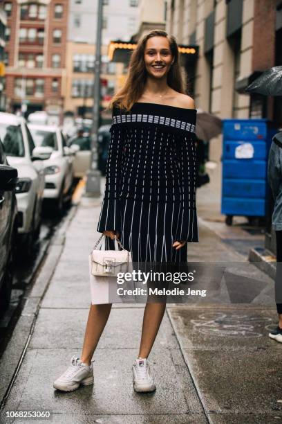
<svg viewBox="0 0 282 424"><path fill-rule="evenodd" d="M179 182L182 204L176 240L198 242L198 219L196 211L196 136L194 133L180 135L176 143Z"/></svg>

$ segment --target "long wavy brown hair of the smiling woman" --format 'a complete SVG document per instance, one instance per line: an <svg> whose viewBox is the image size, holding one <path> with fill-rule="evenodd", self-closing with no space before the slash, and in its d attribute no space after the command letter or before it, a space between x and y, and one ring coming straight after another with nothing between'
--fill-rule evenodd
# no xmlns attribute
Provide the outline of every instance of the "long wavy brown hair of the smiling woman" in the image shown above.
<svg viewBox="0 0 282 424"><path fill-rule="evenodd" d="M109 109L120 107L129 111L132 105L142 96L147 80L147 70L144 62L144 51L147 40L151 37L166 37L174 59L167 74L167 84L179 93L185 94L185 83L179 64L178 45L173 35L168 35L163 30L152 30L139 40L137 47L131 55L129 73L123 87L113 96L109 103Z"/></svg>

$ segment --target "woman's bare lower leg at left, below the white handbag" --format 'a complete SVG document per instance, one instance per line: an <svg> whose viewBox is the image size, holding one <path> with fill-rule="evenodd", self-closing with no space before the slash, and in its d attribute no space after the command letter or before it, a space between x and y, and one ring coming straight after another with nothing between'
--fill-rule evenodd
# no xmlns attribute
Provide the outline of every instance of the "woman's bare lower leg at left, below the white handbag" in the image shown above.
<svg viewBox="0 0 282 424"><path fill-rule="evenodd" d="M90 307L82 355L80 357L80 360L82 360L84 364L91 364L93 353L95 352L95 348L106 326L106 322L108 321L111 306L111 303L106 303L104 305L91 305Z"/></svg>

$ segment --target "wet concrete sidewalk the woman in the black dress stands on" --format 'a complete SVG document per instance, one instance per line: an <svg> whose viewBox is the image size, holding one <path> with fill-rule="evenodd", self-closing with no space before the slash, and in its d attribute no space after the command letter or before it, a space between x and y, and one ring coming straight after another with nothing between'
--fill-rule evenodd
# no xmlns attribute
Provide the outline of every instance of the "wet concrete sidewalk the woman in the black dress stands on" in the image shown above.
<svg viewBox="0 0 282 424"><path fill-rule="evenodd" d="M168 305L150 355L157 391L141 396L133 391L131 364L138 353L143 306L116 305L94 355L94 387L67 394L55 391L53 380L66 369L71 356L81 352L90 304L88 252L99 236L95 229L101 198L83 197L65 235L58 234L53 243L23 311L30 334L1 422L10 423L6 412L17 410L50 411L55 423L282 420L278 365L282 346L267 337L276 319L273 281L247 264L240 243L229 242L244 237L244 243L259 242L259 238L244 236L236 225L226 229L216 211L216 195L214 206L205 200L208 190L205 186L198 193L203 216L200 243L189 244L189 260L220 258L229 264L230 272L242 278L243 265L247 265L247 272L265 283L264 289L242 305L228 298L225 304ZM212 220L207 220L209 210ZM32 305L38 299L35 310ZM20 334L16 328L1 360L3 369L11 366L15 337ZM28 421L17 418L14 422Z"/></svg>

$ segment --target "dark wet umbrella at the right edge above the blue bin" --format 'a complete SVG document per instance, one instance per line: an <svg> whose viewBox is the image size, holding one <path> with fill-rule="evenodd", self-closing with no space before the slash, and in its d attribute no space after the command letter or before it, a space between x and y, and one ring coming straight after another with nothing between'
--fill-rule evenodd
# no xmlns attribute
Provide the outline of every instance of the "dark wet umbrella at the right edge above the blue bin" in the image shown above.
<svg viewBox="0 0 282 424"><path fill-rule="evenodd" d="M264 96L282 96L282 67L267 69L245 91Z"/></svg>

